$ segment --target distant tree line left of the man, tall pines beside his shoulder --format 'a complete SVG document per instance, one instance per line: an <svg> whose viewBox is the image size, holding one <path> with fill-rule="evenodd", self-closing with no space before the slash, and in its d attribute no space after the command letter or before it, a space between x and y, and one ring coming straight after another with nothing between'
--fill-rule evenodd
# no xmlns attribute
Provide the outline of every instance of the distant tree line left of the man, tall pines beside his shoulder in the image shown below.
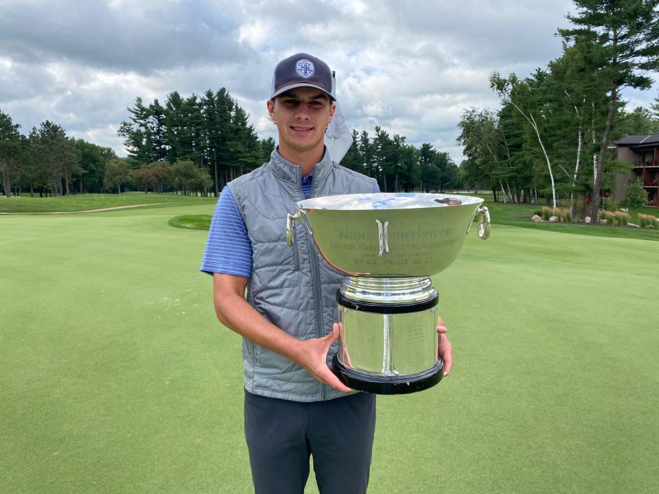
<svg viewBox="0 0 659 494"><path fill-rule="evenodd" d="M41 196L143 191L215 193L224 183L268 161L273 139L259 141L248 115L226 89L203 97L174 92L165 106L137 98L119 126L128 156L119 157L44 121L29 134L0 110L0 178L3 194ZM213 187L214 186L214 187Z"/></svg>

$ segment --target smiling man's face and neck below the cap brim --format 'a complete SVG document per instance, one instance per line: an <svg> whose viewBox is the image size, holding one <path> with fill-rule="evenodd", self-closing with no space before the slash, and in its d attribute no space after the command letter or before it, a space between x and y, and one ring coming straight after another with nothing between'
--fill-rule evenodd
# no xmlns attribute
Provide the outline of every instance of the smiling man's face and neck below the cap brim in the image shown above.
<svg viewBox="0 0 659 494"><path fill-rule="evenodd" d="M313 88L297 88L268 101L270 117L277 123L279 152L322 151L325 128L334 115L329 97Z"/></svg>

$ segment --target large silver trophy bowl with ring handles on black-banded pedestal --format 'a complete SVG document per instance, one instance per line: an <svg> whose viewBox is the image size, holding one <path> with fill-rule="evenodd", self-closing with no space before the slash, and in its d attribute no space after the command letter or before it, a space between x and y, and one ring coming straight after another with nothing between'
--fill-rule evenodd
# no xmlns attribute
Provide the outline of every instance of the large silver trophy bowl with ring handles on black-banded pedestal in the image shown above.
<svg viewBox="0 0 659 494"><path fill-rule="evenodd" d="M297 202L288 215L329 266L346 274L336 293L343 332L332 361L350 388L382 395L435 386L438 293L430 276L458 256L474 217L487 239L483 199L430 193L348 194Z"/></svg>

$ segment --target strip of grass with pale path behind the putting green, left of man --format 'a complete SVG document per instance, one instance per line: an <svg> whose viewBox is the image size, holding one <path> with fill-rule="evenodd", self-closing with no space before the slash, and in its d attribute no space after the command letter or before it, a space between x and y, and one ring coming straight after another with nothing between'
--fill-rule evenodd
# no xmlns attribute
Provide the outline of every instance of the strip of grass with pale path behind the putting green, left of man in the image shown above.
<svg viewBox="0 0 659 494"><path fill-rule="evenodd" d="M76 194L51 198L30 198L29 195L0 196L0 213L49 213L53 211L88 211L110 207L134 206L136 204L159 204L161 206L187 204L214 204L216 198L178 196L172 193L126 192L122 194ZM164 203L164 204L163 204Z"/></svg>

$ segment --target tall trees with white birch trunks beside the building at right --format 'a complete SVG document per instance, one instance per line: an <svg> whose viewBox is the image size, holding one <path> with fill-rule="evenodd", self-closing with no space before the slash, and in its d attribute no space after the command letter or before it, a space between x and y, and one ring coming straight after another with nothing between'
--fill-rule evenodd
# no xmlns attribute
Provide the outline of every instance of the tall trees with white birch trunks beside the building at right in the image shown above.
<svg viewBox="0 0 659 494"><path fill-rule="evenodd" d="M559 58L526 78L492 73L500 109L467 109L458 124L465 183L504 201L544 196L556 207L563 199L573 213L590 201L597 220L601 194L627 169L611 141L659 128L659 97L629 113L621 101L621 89L650 89L649 72L659 70L658 3L575 0L573 27L558 30Z"/></svg>

